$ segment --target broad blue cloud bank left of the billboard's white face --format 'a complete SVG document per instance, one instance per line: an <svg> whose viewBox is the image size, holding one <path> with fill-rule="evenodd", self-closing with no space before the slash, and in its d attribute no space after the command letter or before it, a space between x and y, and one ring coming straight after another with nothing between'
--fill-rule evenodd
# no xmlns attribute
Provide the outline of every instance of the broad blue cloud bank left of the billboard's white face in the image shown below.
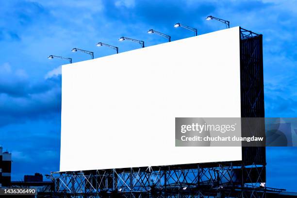
<svg viewBox="0 0 297 198"><path fill-rule="evenodd" d="M0 126L61 111L61 76L32 82L25 70L0 66Z"/></svg>

